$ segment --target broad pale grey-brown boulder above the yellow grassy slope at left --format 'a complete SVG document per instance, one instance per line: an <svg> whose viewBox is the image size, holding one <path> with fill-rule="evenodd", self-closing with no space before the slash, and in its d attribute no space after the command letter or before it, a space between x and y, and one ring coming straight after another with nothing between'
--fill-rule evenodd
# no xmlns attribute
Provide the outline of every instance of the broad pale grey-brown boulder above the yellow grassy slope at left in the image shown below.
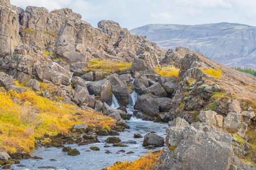
<svg viewBox="0 0 256 170"><path fill-rule="evenodd" d="M58 63L48 64L37 61L34 66L40 80L51 81L55 85L70 85L71 83L73 73Z"/></svg>

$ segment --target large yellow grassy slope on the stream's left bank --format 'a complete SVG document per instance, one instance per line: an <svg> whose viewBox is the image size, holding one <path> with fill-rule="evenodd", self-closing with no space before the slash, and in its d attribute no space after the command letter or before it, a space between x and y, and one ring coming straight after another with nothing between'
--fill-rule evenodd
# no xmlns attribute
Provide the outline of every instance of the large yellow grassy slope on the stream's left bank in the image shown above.
<svg viewBox="0 0 256 170"><path fill-rule="evenodd" d="M101 129L115 126L116 121L101 112L82 111L76 105L40 97L31 90L0 92L0 103L0 152L30 152L36 138L66 134L74 124L88 123Z"/></svg>

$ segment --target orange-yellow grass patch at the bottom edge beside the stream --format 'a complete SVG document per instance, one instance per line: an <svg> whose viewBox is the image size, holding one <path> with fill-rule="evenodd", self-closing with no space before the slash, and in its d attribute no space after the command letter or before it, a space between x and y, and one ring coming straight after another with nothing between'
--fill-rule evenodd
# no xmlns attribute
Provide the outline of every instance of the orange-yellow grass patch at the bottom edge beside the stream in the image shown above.
<svg viewBox="0 0 256 170"><path fill-rule="evenodd" d="M162 151L156 153L148 153L138 160L117 162L113 167L106 168L107 170L154 170L155 165L159 160Z"/></svg>

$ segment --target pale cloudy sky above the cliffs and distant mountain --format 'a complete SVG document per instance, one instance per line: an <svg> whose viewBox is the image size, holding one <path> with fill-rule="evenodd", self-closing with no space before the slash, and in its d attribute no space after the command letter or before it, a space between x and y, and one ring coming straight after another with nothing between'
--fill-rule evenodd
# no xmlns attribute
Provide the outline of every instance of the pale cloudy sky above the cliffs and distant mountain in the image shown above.
<svg viewBox="0 0 256 170"><path fill-rule="evenodd" d="M146 24L218 22L256 26L256 0L10 0L13 5L71 8L97 27L99 20L117 21L128 29Z"/></svg>

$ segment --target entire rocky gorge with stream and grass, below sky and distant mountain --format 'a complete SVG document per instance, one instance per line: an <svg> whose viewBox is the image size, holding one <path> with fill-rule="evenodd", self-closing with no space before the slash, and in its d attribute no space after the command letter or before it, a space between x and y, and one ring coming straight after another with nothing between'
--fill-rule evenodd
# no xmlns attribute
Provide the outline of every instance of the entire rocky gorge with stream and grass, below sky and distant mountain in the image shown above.
<svg viewBox="0 0 256 170"><path fill-rule="evenodd" d="M68 8L0 1L0 95L3 169L256 167L256 77Z"/></svg>

